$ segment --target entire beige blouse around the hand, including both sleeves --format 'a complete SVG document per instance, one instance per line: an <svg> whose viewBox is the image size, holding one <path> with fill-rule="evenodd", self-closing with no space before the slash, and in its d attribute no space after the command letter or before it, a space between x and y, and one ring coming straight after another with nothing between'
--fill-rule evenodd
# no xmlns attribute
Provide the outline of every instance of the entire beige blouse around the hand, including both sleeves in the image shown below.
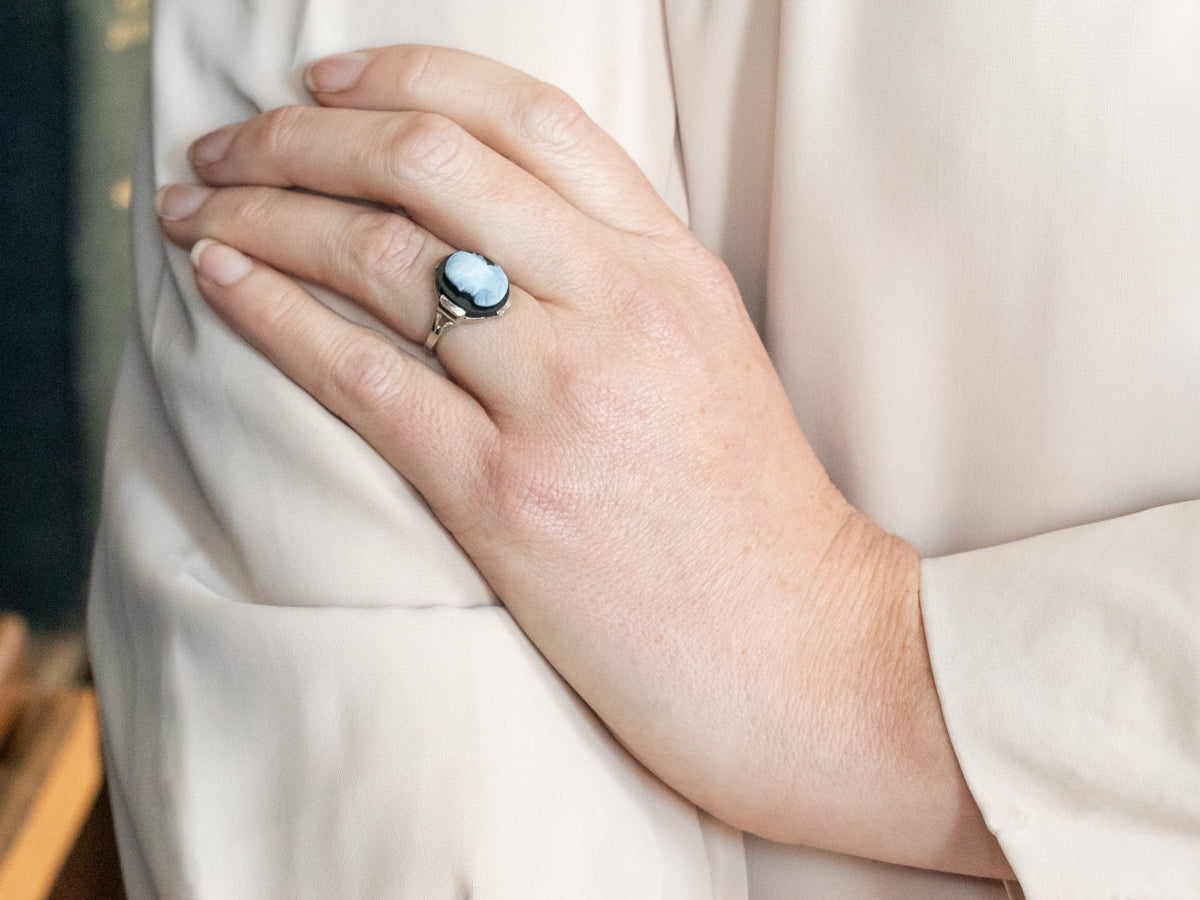
<svg viewBox="0 0 1200 900"><path fill-rule="evenodd" d="M131 896L1006 896L666 788L204 306L154 186L397 42L565 88L730 264L834 481L926 558L1027 896L1200 895L1200 7L160 0L155 42L90 604Z"/></svg>

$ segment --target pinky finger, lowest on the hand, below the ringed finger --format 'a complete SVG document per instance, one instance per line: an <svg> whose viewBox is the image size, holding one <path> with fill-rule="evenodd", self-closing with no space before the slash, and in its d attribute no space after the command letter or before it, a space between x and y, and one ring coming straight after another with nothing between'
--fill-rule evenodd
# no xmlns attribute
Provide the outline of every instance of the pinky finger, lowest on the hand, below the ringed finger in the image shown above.
<svg viewBox="0 0 1200 900"><path fill-rule="evenodd" d="M233 247L198 241L192 264L217 314L362 436L454 532L494 434L474 397Z"/></svg>

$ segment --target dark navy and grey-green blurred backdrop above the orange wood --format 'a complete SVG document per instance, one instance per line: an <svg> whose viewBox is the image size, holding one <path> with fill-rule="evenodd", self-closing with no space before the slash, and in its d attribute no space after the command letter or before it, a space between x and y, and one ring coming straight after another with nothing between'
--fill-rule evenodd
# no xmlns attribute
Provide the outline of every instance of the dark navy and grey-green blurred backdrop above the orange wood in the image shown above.
<svg viewBox="0 0 1200 900"><path fill-rule="evenodd" d="M83 623L150 0L0 0L0 610Z"/></svg>

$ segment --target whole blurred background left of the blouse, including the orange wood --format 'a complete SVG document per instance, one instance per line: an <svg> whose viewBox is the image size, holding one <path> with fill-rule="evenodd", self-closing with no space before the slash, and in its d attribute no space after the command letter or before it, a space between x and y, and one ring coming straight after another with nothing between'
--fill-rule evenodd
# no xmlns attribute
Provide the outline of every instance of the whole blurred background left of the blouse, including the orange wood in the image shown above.
<svg viewBox="0 0 1200 900"><path fill-rule="evenodd" d="M150 0L0 0L6 900L124 896L82 626L131 307L130 173L149 37Z"/></svg>

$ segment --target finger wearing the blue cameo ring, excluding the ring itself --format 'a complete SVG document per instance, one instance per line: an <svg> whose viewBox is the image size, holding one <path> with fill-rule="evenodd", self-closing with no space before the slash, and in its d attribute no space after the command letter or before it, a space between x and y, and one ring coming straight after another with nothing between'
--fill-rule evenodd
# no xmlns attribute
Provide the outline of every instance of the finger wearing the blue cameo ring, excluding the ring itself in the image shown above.
<svg viewBox="0 0 1200 900"><path fill-rule="evenodd" d="M353 298L414 343L430 334L433 271L451 251L404 216L264 187L172 185L158 192L156 205L167 236L184 247L202 238L234 245L274 269ZM312 302L304 292L286 296ZM500 414L534 396L550 328L545 310L520 288L509 302L504 317L456 325L438 344L448 374Z"/></svg>

